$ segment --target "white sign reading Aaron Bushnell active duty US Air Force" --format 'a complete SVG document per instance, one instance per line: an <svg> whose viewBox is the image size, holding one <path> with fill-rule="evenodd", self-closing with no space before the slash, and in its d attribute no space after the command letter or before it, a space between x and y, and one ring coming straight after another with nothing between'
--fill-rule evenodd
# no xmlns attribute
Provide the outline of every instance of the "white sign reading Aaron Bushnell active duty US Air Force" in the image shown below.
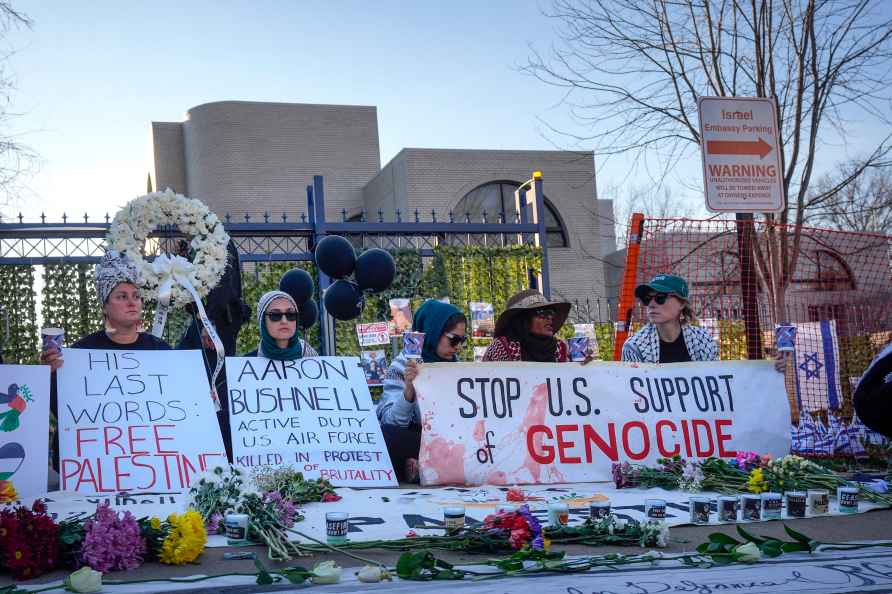
<svg viewBox="0 0 892 594"><path fill-rule="evenodd" d="M233 463L291 466L338 486L396 486L357 357L227 357Z"/></svg>

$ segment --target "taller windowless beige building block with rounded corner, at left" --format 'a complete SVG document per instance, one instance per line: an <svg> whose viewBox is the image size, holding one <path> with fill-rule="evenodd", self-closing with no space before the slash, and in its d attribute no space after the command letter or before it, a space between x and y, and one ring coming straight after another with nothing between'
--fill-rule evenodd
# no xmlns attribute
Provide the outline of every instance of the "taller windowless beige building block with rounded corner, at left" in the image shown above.
<svg viewBox="0 0 892 594"><path fill-rule="evenodd" d="M326 216L339 220L341 209L362 203L363 187L380 168L375 107L221 101L193 107L180 125L181 150L175 123L153 123L163 140L155 144L156 185L185 181L177 191L221 216L306 212L306 186L322 175Z"/></svg>

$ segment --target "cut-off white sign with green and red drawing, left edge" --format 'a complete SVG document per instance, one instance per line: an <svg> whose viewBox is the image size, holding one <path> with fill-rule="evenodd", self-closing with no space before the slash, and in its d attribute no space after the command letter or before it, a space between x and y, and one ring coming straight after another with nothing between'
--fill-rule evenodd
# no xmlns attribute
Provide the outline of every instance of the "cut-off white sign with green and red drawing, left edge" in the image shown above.
<svg viewBox="0 0 892 594"><path fill-rule="evenodd" d="M46 491L50 368L0 365L0 480L19 496Z"/></svg>

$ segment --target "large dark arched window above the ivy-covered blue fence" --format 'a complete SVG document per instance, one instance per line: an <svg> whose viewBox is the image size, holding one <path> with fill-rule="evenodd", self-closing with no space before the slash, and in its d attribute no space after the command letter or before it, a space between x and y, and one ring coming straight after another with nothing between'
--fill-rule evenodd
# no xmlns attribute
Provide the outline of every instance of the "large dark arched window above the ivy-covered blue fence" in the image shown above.
<svg viewBox="0 0 892 594"><path fill-rule="evenodd" d="M498 222L499 214L505 213L505 222L514 222L517 209L514 205L514 191L520 186L513 181L497 181L477 186L464 195L455 206L455 218L463 218L465 213L471 215L472 221L483 219L486 212L486 220L491 223ZM544 197L543 197L544 198ZM557 211L547 198L545 204L545 233L548 236L548 247L568 247L567 231L561 222Z"/></svg>

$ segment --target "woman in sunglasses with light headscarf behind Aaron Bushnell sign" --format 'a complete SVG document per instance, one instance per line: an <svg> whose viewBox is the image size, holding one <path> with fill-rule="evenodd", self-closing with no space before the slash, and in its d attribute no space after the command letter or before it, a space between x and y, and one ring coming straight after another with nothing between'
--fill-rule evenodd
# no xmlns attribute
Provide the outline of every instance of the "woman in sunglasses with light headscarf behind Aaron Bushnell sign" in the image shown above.
<svg viewBox="0 0 892 594"><path fill-rule="evenodd" d="M245 357L266 357L276 361L292 361L316 357L318 353L297 334L297 304L284 291L269 291L257 301L257 325L260 344Z"/></svg>

